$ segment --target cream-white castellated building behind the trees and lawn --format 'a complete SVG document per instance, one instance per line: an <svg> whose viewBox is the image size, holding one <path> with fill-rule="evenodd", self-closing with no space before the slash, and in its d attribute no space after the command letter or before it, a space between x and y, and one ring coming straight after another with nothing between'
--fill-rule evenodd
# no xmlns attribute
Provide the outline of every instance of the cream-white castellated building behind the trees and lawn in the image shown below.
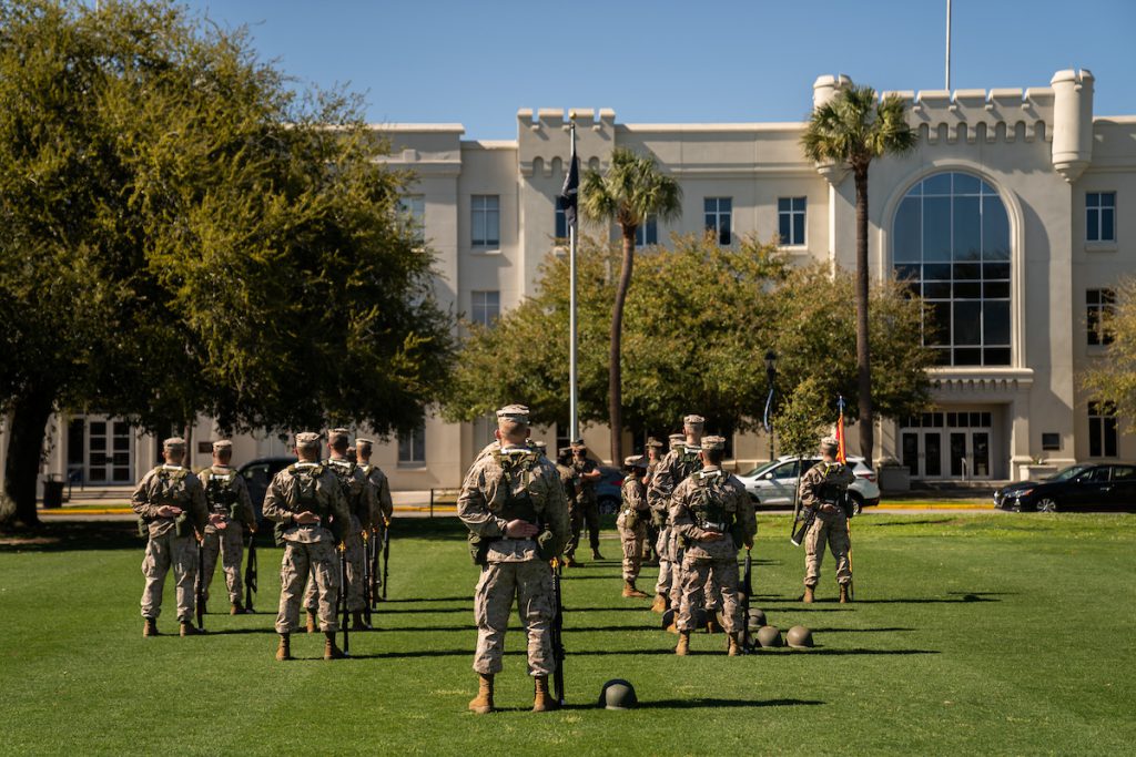
<svg viewBox="0 0 1136 757"><path fill-rule="evenodd" d="M849 83L818 78L815 103ZM1088 72L1066 70L1025 92L900 93L919 144L872 165L871 272L913 277L950 334L932 371L936 411L882 422L877 435L880 456L916 478L1017 479L1037 460L1136 459L1136 439L1077 384L1106 350L1095 314L1118 277L1136 274L1136 213L1126 212L1136 205L1136 116L1094 116L1093 86ZM613 146L627 146L652 152L682 184L682 216L649 225L646 243L708 226L728 244L779 232L796 260L854 267L853 183L804 159L804 124L621 124L611 110L577 110L576 124L585 166L602 169ZM463 140L460 125L376 128L391 140L390 163L417 176L408 212L438 255L443 304L490 321L532 294L565 234L554 201L569 154L565 112L520 110L517 138L503 142ZM429 420L376 462L399 489L453 487L491 428ZM206 420L194 434L214 438ZM99 417L59 418L50 436L47 470L82 471L94 485L136 479L158 449ZM543 436L556 444L553 430ZM586 438L607 454L605 429ZM204 464L207 446L193 446ZM768 454L752 435L734 449L741 466ZM248 437L234 457L284 451L277 437Z"/></svg>

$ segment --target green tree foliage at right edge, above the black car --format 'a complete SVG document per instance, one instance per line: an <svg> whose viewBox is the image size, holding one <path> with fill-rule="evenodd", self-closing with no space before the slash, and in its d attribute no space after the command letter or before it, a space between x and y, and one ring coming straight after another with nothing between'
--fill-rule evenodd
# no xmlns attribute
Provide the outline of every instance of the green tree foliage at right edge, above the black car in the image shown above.
<svg viewBox="0 0 1136 757"><path fill-rule="evenodd" d="M1081 386L1091 402L1112 405L1117 415L1128 419L1120 426L1126 434L1136 432L1136 278L1127 277L1116 287L1114 310L1101 313L1099 328L1112 336L1112 344L1100 362L1081 375Z"/></svg>

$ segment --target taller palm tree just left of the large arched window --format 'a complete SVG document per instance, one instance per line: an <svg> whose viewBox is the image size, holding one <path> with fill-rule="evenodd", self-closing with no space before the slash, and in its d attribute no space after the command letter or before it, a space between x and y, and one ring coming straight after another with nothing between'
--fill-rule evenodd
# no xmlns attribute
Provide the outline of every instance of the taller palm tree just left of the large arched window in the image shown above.
<svg viewBox="0 0 1136 757"><path fill-rule="evenodd" d="M812 111L801 137L815 162L847 166L855 179L855 356L859 381L860 454L872 461L871 354L868 348L868 167L874 158L914 149L918 134L908 125L907 107L896 95L883 101L870 86L837 91Z"/></svg>

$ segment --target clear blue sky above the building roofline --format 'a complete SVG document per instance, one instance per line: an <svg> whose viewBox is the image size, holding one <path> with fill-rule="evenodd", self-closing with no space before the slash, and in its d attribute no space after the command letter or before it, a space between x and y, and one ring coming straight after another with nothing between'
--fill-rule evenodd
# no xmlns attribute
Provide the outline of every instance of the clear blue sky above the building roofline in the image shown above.
<svg viewBox="0 0 1136 757"><path fill-rule="evenodd" d="M624 123L801 120L813 79L944 85L945 0L401 2L190 0L248 25L298 86L346 84L375 123L516 138L518 108ZM1136 0L953 0L952 89L1046 86L1089 68L1094 112L1136 115Z"/></svg>

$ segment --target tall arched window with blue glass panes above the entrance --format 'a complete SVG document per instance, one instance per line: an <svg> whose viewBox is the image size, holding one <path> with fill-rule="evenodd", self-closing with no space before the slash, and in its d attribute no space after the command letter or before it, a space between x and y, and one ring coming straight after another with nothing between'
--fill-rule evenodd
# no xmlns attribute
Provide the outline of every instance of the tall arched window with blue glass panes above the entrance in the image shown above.
<svg viewBox="0 0 1136 757"><path fill-rule="evenodd" d="M911 187L893 227L895 275L930 306L924 344L941 365L1010 364L1010 221L977 176L935 174Z"/></svg>

